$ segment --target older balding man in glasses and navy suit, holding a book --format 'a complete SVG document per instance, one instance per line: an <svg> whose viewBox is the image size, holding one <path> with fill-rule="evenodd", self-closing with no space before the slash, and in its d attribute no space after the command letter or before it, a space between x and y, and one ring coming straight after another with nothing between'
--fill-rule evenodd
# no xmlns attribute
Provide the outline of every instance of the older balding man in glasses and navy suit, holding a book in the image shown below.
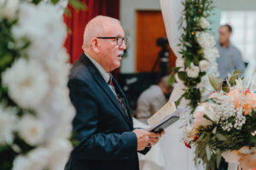
<svg viewBox="0 0 256 170"><path fill-rule="evenodd" d="M146 153L162 135L134 129L125 94L110 74L120 66L125 40L119 20L97 16L85 26L84 54L68 82L79 144L66 170L137 170L137 151Z"/></svg>

